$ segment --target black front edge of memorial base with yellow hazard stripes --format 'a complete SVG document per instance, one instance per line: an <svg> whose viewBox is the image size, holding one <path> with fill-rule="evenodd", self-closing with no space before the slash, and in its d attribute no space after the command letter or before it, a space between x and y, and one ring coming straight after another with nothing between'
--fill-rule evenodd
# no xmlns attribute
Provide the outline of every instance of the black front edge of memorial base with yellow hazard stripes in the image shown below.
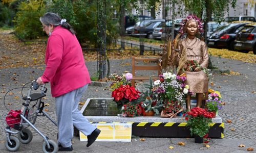
<svg viewBox="0 0 256 153"><path fill-rule="evenodd" d="M139 137L190 137L186 122L91 122L132 123L132 135ZM211 123L210 138L224 138L224 123Z"/></svg>

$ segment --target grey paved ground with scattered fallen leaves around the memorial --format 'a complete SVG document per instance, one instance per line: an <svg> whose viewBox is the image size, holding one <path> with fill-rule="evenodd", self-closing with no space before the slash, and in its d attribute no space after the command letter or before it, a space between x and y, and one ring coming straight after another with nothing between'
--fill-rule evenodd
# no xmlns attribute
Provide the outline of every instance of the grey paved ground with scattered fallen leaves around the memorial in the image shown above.
<svg viewBox="0 0 256 153"><path fill-rule="evenodd" d="M208 148L202 144L194 143L193 138L145 138L145 141L140 141L138 138L132 139L132 142L95 142L88 148L86 147L87 142L80 142L78 137L74 137L73 152L244 152L248 147L254 148L254 152L256 152L256 94L252 93L252 91L256 92L256 64L217 57L211 57L211 61L221 71L232 70L241 74L221 75L216 73L213 79L214 86L211 87L209 85L210 88L220 91L222 100L226 103L219 113L225 123L225 137L223 139L211 139L210 147ZM125 70L131 71L131 65L126 63L131 63L131 59L112 60L111 73L121 74ZM97 71L97 62L87 62L86 64L91 74ZM215 70L215 72L219 72L219 70ZM21 84L38 78L42 72L42 69L38 67L0 69L2 90L9 91L16 87L22 87ZM18 83L11 79L13 76L16 77ZM45 107L45 109L48 109L49 115L56 120L54 99L51 97L49 85L47 85L47 88L47 99L44 99L44 101L50 106ZM6 103L15 100L13 96L20 95L20 90L12 92L14 95L7 96ZM27 90L24 89L23 94L26 92ZM1 101L3 101L4 95L5 93L0 93ZM87 98L110 97L111 91L108 88L89 86L81 101L86 101ZM21 99L16 99L15 103L13 102L10 107L20 109L20 106L17 105L20 104L19 101ZM4 145L4 115L8 111L3 106L3 103L1 106L0 152L9 152ZM232 120L232 122L227 123L227 119ZM57 127L46 117L38 117L35 126L51 140L57 141ZM235 131L231 131L231 128L235 129ZM33 140L29 144L21 144L17 152L42 152L42 138L31 127L29 129L33 132ZM185 142L185 145L178 145L179 141ZM240 144L244 144L245 147L238 147ZM169 149L169 146L174 148Z"/></svg>

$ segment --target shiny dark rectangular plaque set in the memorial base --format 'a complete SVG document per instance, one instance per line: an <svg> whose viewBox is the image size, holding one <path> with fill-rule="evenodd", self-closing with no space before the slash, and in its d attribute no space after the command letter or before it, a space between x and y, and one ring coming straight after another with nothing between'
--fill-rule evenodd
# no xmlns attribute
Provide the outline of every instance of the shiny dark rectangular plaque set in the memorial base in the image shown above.
<svg viewBox="0 0 256 153"><path fill-rule="evenodd" d="M90 99L82 112L83 116L117 116L118 109L113 99Z"/></svg>

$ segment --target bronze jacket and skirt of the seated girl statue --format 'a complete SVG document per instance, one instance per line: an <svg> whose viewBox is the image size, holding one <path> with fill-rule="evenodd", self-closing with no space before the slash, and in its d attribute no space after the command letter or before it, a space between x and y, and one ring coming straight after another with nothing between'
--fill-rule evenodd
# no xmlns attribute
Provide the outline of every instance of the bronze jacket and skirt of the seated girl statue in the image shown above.
<svg viewBox="0 0 256 153"><path fill-rule="evenodd" d="M182 52L186 52L187 60L196 60L202 67L208 66L208 54L207 46L205 42L201 41L197 37L190 40L188 37L179 40L178 42L179 55ZM180 56L178 57L180 61ZM178 64L178 63L177 63ZM204 93L208 91L208 77L203 71L189 72L186 73L186 84L189 85L189 89L193 93Z"/></svg>

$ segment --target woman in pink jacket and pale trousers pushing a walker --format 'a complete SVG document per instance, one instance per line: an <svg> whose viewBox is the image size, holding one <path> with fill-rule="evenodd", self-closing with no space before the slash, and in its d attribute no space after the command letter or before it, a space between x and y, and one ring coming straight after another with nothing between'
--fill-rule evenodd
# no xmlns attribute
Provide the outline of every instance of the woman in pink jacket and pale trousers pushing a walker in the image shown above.
<svg viewBox="0 0 256 153"><path fill-rule="evenodd" d="M51 83L58 124L59 151L72 151L73 127L88 137L89 147L100 130L78 110L79 100L91 83L81 46L66 19L55 13L40 17L42 28L49 36L46 48L46 68L38 84Z"/></svg>

